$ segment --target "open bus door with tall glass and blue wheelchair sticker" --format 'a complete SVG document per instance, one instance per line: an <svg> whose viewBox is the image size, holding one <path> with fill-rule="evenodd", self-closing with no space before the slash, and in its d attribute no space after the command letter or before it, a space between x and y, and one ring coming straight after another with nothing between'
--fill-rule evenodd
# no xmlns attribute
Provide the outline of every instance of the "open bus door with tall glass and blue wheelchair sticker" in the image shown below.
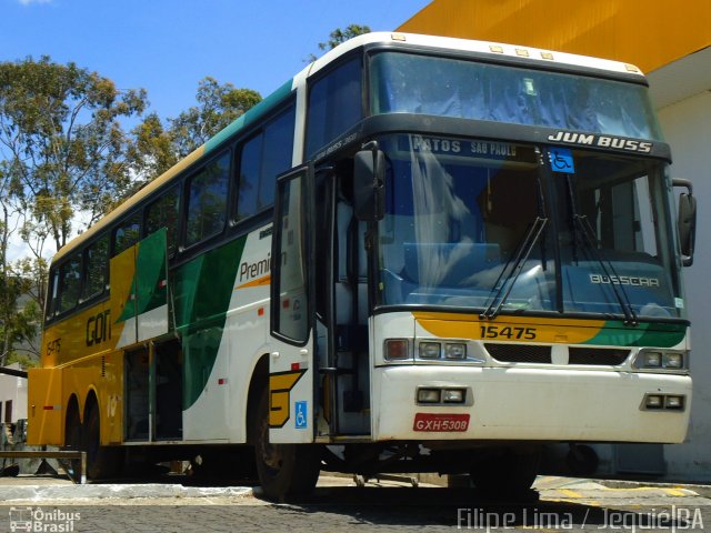
<svg viewBox="0 0 711 533"><path fill-rule="evenodd" d="M269 440L314 438L313 167L298 167L277 182L272 238Z"/></svg>

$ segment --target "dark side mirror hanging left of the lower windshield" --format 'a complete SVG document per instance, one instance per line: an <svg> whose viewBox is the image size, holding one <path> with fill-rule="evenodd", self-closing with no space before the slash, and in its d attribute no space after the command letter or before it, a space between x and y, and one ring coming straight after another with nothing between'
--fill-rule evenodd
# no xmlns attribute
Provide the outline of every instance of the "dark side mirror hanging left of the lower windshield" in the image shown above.
<svg viewBox="0 0 711 533"><path fill-rule="evenodd" d="M353 160L353 211L356 218L374 222L384 215L385 154L368 143Z"/></svg>

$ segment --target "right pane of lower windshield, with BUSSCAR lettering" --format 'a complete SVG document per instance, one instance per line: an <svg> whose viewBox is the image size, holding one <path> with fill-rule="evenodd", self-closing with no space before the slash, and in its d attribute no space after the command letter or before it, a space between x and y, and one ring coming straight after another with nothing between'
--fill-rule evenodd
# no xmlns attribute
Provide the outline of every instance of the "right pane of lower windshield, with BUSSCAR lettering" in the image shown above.
<svg viewBox="0 0 711 533"><path fill-rule="evenodd" d="M558 212L567 311L679 316L681 300L664 201L664 165L653 160L552 149L565 209Z"/></svg>

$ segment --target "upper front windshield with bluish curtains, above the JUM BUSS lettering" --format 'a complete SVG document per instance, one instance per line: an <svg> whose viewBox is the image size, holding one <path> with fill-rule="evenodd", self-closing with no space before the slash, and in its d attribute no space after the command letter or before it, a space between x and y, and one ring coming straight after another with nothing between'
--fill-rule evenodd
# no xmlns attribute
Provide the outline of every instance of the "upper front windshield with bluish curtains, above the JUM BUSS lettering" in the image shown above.
<svg viewBox="0 0 711 533"><path fill-rule="evenodd" d="M373 114L417 113L661 140L648 89L601 78L380 52Z"/></svg>

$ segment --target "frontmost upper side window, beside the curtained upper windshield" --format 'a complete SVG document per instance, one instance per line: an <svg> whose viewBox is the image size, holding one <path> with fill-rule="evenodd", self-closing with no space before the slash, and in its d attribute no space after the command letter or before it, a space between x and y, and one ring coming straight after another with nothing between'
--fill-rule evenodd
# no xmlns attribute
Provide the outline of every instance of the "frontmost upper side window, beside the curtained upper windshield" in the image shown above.
<svg viewBox="0 0 711 533"><path fill-rule="evenodd" d="M342 64L309 90L307 155L354 125L363 117L360 58Z"/></svg>

